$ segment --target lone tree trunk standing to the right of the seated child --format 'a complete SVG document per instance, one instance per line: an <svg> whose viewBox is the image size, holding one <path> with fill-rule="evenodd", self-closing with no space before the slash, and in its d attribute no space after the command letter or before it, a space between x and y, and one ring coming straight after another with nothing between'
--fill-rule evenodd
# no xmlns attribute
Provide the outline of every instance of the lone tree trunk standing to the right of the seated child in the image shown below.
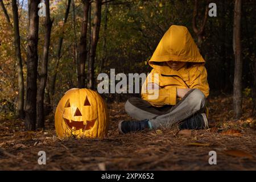
<svg viewBox="0 0 256 182"><path fill-rule="evenodd" d="M233 107L234 118L242 116L242 52L241 52L241 0L235 0L234 26L233 26L233 51L234 51L234 87Z"/></svg>

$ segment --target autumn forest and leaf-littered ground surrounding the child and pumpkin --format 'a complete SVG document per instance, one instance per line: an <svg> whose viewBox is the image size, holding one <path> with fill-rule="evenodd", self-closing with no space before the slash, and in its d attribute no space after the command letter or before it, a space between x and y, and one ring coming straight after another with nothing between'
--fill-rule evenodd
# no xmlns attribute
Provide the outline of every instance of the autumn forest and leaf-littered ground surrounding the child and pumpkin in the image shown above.
<svg viewBox="0 0 256 182"><path fill-rule="evenodd" d="M255 170L255 9L255 0L0 0L0 170ZM206 60L209 129L121 134L118 123L133 119L125 101L139 94L105 93L104 139L56 135L67 90L97 90L110 69L150 72L172 24Z"/></svg>

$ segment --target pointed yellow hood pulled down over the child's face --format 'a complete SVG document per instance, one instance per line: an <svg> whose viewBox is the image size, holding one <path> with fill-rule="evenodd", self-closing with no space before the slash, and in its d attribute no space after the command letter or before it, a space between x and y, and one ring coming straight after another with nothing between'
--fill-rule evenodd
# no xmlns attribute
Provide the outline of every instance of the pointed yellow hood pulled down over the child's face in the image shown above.
<svg viewBox="0 0 256 182"><path fill-rule="evenodd" d="M187 27L172 25L160 40L148 63L161 72L169 72L170 67L159 63L166 61L205 63Z"/></svg>

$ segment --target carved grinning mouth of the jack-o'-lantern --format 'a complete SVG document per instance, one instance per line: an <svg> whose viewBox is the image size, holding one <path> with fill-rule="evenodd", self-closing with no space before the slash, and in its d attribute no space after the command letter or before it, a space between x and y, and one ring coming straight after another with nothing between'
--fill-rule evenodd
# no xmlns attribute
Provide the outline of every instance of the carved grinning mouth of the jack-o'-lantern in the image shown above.
<svg viewBox="0 0 256 182"><path fill-rule="evenodd" d="M65 123L67 123L68 127L70 129L74 129L74 130L90 130L92 129L92 127L94 126L94 123L95 121L97 120L96 119L93 119L93 120L90 120L90 121L86 121L86 124L84 124L83 121L73 121L72 119L69 120L69 119L66 119L66 118L63 118Z"/></svg>

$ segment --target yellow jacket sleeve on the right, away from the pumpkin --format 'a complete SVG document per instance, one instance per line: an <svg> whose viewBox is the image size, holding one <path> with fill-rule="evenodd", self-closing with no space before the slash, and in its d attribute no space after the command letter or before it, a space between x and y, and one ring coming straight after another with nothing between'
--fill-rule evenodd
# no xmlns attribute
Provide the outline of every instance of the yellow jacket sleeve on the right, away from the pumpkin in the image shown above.
<svg viewBox="0 0 256 182"><path fill-rule="evenodd" d="M209 85L207 81L207 70L204 66L196 66L191 75L191 84L189 88L199 89L204 93L205 97L209 96Z"/></svg>

